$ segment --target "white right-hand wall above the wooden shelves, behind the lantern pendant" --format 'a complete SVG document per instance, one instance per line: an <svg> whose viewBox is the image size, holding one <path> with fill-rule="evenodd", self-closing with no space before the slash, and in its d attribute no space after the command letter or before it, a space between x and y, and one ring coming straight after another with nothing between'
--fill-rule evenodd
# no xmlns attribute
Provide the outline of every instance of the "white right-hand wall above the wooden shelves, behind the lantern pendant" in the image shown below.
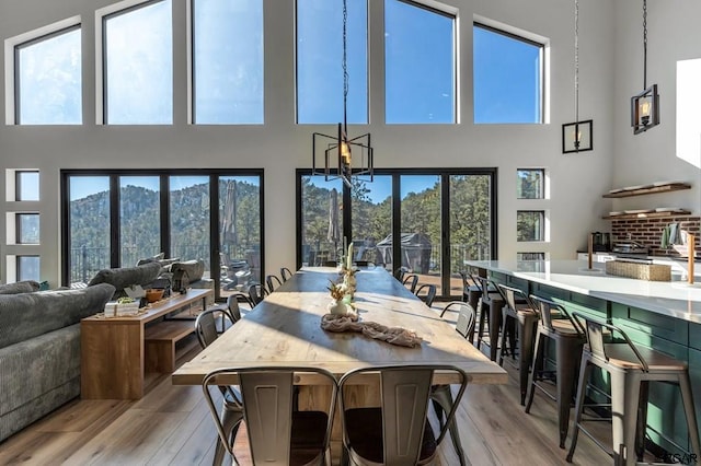
<svg viewBox="0 0 701 466"><path fill-rule="evenodd" d="M643 91L643 2L614 1L616 36L613 82L613 186L657 180L683 180L690 190L625 198L612 202L613 210L648 207L682 207L699 214L701 209L701 119L677 116L677 109L701 112L701 74L678 89L677 69L701 61L701 2L698 0L650 0L647 2L647 85L657 84L660 124L641 135L630 126L630 98ZM689 61L689 60L697 61ZM681 77L688 79L689 77ZM679 139L680 143L677 143Z"/></svg>

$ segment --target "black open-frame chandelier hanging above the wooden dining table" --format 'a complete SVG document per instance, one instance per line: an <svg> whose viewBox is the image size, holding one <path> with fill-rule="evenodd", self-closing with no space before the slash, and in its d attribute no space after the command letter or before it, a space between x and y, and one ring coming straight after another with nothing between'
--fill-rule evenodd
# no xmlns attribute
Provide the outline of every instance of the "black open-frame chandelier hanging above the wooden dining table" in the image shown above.
<svg viewBox="0 0 701 466"><path fill-rule="evenodd" d="M346 0L343 0L343 123L338 124L336 136L314 132L312 135L312 174L324 175L325 180L341 178L350 188L353 176L369 176L372 180L372 145L370 145L370 133L348 137L348 121L346 104L348 100L348 66L347 66L347 22L348 9ZM318 147L319 145L319 147ZM323 153L323 171L321 164L317 163L317 154ZM336 173L332 172L333 159L336 159ZM354 162L357 166L354 168ZM319 167L320 170L318 170Z"/></svg>

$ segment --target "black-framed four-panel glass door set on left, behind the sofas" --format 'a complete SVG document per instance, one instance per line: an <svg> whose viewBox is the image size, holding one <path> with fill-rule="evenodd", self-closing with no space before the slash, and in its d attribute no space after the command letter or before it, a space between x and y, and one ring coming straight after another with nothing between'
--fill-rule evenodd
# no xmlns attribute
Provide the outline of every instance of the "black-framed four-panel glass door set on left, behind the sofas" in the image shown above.
<svg viewBox="0 0 701 466"><path fill-rule="evenodd" d="M261 281L261 170L64 171L61 184L68 195L64 284L160 253L202 259L216 296Z"/></svg>

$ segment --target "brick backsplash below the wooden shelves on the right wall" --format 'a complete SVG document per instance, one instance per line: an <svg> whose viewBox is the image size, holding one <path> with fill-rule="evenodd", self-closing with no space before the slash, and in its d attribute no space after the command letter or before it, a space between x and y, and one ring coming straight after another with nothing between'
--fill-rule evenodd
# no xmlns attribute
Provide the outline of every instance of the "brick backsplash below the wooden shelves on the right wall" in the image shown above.
<svg viewBox="0 0 701 466"><path fill-rule="evenodd" d="M662 232L669 223L678 223L679 230L687 231L697 237L697 255L701 252L701 217L665 217L657 219L620 219L611 220L611 244L625 241L634 241L650 248L652 256L681 257L687 254L679 254L674 247L663 249L659 247ZM630 236L629 236L630 234Z"/></svg>

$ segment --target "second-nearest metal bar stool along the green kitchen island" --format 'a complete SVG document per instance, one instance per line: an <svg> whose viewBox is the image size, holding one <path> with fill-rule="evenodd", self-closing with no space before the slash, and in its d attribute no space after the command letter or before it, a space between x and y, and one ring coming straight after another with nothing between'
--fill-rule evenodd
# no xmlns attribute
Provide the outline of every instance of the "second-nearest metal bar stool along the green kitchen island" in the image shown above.
<svg viewBox="0 0 701 466"><path fill-rule="evenodd" d="M558 421L560 426L560 447L565 447L565 439L570 428L570 407L577 375L577 364L582 359L582 348L586 342L585 330L572 318L570 313L560 304L531 294L529 296L533 308L538 313L538 331L533 349L533 363L528 378L528 403L526 412L530 412L536 388L542 391L550 399L558 404ZM555 318L553 318L555 317ZM543 360L545 338L555 343L555 394L545 389L538 382L538 368ZM576 362L575 362L576 361Z"/></svg>

